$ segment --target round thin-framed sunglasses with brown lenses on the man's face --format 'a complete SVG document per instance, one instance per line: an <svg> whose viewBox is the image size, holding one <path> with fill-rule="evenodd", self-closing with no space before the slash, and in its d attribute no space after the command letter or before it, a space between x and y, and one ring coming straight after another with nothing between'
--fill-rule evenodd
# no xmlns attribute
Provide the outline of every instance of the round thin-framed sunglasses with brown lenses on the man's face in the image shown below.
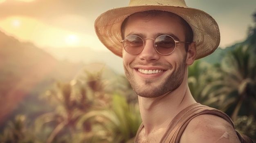
<svg viewBox="0 0 256 143"><path fill-rule="evenodd" d="M144 48L144 40L151 39L154 40L155 51L161 55L169 55L173 53L177 43L189 43L174 40L170 35L160 35L157 38L145 38L142 39L137 35L128 35L121 40L123 43L124 50L132 55L139 54Z"/></svg>

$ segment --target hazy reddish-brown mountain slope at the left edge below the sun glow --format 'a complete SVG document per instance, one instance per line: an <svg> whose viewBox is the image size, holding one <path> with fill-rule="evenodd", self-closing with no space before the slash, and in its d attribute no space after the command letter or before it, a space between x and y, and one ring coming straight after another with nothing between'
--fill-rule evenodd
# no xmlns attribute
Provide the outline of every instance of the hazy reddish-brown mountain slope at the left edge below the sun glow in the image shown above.
<svg viewBox="0 0 256 143"><path fill-rule="evenodd" d="M56 80L70 81L84 66L60 61L0 31L0 126L13 112L27 112L22 105L42 105L38 95Z"/></svg>

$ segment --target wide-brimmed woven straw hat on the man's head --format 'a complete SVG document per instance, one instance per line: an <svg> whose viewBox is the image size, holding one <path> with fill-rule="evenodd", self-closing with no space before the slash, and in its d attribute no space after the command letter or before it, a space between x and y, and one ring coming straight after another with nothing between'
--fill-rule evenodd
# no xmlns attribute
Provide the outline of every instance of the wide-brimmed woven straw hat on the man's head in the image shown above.
<svg viewBox="0 0 256 143"><path fill-rule="evenodd" d="M191 26L196 42L196 59L213 53L220 44L220 30L211 15L186 6L184 0L130 0L128 7L110 9L99 15L94 28L99 40L115 55L122 57L121 24L131 14L161 10L175 13Z"/></svg>

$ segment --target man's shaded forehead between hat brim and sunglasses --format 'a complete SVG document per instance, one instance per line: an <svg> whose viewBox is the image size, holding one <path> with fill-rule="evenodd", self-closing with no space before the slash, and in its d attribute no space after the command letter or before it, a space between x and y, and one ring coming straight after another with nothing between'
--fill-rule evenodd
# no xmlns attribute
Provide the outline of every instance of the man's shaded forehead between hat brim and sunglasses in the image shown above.
<svg viewBox="0 0 256 143"><path fill-rule="evenodd" d="M146 11L130 15L123 23L123 35L129 33L175 33L184 37L181 18L166 11Z"/></svg>

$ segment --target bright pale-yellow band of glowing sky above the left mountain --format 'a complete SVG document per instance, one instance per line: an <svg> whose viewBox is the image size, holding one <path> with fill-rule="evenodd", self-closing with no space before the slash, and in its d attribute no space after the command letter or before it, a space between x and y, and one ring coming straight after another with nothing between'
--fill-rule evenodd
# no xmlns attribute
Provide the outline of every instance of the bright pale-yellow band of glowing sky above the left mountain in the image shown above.
<svg viewBox="0 0 256 143"><path fill-rule="evenodd" d="M0 20L0 31L16 37L18 40L33 42L38 47L77 46L105 50L96 36L74 33L26 16L15 15Z"/></svg>

